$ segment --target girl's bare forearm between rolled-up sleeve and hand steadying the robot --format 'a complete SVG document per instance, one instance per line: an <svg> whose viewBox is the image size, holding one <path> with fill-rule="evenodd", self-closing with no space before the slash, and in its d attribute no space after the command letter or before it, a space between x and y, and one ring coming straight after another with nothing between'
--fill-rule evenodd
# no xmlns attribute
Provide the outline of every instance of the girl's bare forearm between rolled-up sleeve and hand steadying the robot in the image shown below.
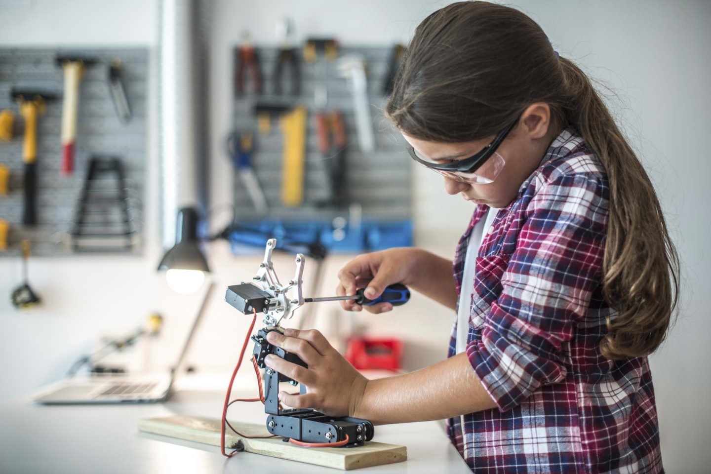
<svg viewBox="0 0 711 474"><path fill-rule="evenodd" d="M368 380L351 416L374 424L408 423L495 408L465 353L410 374Z"/></svg>

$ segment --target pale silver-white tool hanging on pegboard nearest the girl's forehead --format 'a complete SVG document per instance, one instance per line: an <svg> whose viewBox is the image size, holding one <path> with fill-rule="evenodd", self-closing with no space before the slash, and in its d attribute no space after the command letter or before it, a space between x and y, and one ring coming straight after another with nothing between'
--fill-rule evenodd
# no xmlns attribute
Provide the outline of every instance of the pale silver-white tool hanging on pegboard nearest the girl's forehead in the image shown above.
<svg viewBox="0 0 711 474"><path fill-rule="evenodd" d="M368 82L365 77L365 59L360 55L349 55L338 60L338 72L351 82L355 127L358 130L358 144L361 151L375 149L373 119L370 116Z"/></svg>

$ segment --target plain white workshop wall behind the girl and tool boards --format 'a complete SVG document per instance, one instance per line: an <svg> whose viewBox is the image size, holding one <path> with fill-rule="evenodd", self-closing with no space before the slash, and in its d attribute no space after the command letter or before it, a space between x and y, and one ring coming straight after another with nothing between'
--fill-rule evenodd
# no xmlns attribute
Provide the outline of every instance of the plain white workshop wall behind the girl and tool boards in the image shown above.
<svg viewBox="0 0 711 474"><path fill-rule="evenodd" d="M8 0L6 0L7 2ZM5 45L146 45L155 50L157 0L153 1L11 1L2 6L0 46ZM230 97L230 48L240 31L250 28L257 43L274 43L275 18L289 15L296 33L333 35L343 43L383 44L405 41L417 22L447 2L390 0L335 2L302 0L215 1L213 8L212 125L213 204L229 199L228 161L221 155L230 127L225 97ZM28 6L23 6L28 5ZM651 357L661 421L663 456L670 472L702 472L711 463L708 430L711 411L707 341L711 333L711 291L705 269L710 224L711 165L702 137L707 136L711 97L707 52L711 4L706 1L519 1L518 6L545 29L553 45L592 76L605 80L620 99L613 105L632 144L641 152L661 197L675 242L684 261L683 306L663 348ZM68 12L68 13L64 13ZM29 14L31 13L31 14ZM63 21L58 21L57 18ZM154 91L156 82L154 81ZM156 91L157 92L157 91ZM151 123L156 124L156 107ZM149 134L151 180L157 183L156 129ZM426 170L422 170L426 171ZM415 171L415 222L419 244L451 254L470 208L445 195L434 173ZM430 176L432 175L432 176ZM60 377L74 357L107 330L126 330L147 311L166 316L166 343L175 348L196 298L175 296L154 274L158 248L157 193L149 198L150 245L143 259L35 259L31 282L46 301L43 309L17 313L0 299L0 400L26 394ZM451 209L442 212L442 209ZM215 220L218 227L221 222ZM437 234L432 232L437 229ZM221 244L210 247L218 291L196 341L193 360L227 370L234 359L245 321L221 301L225 284L252 274L257 259L235 259ZM328 264L328 286L343 258ZM290 272L289 259L277 268ZM308 264L307 264L308 265ZM306 267L306 273L309 266ZM0 295L20 279L16 261L0 260ZM328 289L324 290L328 293ZM333 307L320 308L322 327ZM407 365L417 367L444 356L451 314L433 303L417 301L407 310L370 322L376 333L406 338Z"/></svg>

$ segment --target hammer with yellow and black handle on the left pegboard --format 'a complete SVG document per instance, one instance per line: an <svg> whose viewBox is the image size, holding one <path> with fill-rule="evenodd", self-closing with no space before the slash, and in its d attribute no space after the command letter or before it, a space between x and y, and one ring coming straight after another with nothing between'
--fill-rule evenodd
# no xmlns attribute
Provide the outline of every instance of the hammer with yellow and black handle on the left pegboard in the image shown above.
<svg viewBox="0 0 711 474"><path fill-rule="evenodd" d="M37 117L44 113L45 102L54 100L53 94L41 90L13 89L10 97L16 99L20 114L25 119L25 139L22 147L22 161L25 163L25 208L22 217L24 225L37 224Z"/></svg>

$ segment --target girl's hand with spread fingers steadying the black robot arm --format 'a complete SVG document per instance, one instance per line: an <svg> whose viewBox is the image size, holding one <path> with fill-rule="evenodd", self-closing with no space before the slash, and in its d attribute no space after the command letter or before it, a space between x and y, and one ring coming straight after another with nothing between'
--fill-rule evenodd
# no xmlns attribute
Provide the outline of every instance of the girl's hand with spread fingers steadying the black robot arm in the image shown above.
<svg viewBox="0 0 711 474"><path fill-rule="evenodd" d="M304 395L279 392L279 400L294 408L313 408L330 416L353 416L365 392L368 379L360 375L324 335L315 329L285 329L284 335L267 334L269 344L293 352L308 369L267 355L264 363L307 387Z"/></svg>

